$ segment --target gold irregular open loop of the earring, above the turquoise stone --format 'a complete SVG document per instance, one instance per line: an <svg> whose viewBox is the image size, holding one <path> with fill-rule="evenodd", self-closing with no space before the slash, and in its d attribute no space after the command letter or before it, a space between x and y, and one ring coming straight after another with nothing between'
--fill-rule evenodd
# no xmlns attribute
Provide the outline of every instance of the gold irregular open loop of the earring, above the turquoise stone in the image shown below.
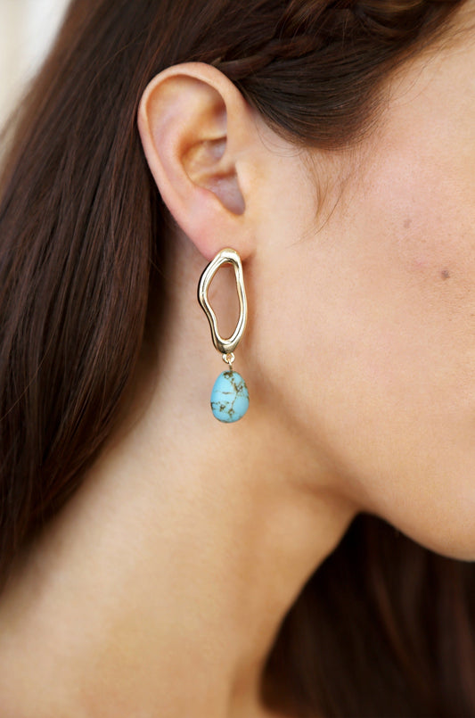
<svg viewBox="0 0 475 718"><path fill-rule="evenodd" d="M237 293L239 299L239 319L234 329L232 336L228 339L223 339L217 329L217 318L208 300L208 289L211 284L213 276L217 273L217 270L223 266L223 264L232 264L234 268L234 276L236 277ZM239 342L241 341L242 334L246 328L246 321L248 318L248 303L246 300L246 291L244 289L244 279L242 276L242 261L239 254L229 247L226 247L221 252L217 252L214 260L209 262L209 265L203 271L200 282L198 284L198 301L201 304L201 308L205 312L209 320L209 326L211 327L211 337L213 344L220 351L221 354L232 354Z"/></svg>

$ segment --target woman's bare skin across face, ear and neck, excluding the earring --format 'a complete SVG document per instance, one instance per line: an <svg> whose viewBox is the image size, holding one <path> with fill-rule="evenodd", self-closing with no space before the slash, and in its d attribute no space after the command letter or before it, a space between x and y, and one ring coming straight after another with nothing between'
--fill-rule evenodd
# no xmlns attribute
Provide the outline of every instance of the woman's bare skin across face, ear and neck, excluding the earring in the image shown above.
<svg viewBox="0 0 475 718"><path fill-rule="evenodd" d="M263 718L275 633L356 513L475 558L474 66L472 30L418 55L339 153L274 134L215 68L152 80L138 127L177 224L166 326L0 600L2 715ZM233 425L210 411L225 366L196 300L225 246L250 309ZM231 334L232 270L211 303Z"/></svg>

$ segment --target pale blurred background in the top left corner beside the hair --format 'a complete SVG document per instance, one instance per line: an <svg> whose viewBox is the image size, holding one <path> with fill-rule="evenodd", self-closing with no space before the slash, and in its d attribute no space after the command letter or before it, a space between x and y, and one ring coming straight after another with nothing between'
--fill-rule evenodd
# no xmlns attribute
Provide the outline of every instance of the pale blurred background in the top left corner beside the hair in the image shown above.
<svg viewBox="0 0 475 718"><path fill-rule="evenodd" d="M43 60L69 0L0 0L0 126Z"/></svg>

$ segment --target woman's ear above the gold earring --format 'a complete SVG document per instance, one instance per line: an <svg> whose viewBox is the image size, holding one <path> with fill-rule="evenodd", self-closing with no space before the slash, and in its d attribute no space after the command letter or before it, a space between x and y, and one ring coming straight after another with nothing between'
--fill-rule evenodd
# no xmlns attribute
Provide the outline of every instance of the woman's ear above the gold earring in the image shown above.
<svg viewBox="0 0 475 718"><path fill-rule="evenodd" d="M249 256L248 202L264 147L233 83L201 62L170 67L146 87L138 128L160 194L199 252L210 260L230 244Z"/></svg>

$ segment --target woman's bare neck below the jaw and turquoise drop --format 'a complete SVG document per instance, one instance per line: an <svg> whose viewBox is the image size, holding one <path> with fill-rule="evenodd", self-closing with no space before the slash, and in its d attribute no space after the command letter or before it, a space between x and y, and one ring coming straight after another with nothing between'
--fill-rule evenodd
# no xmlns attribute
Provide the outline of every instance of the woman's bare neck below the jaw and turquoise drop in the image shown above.
<svg viewBox="0 0 475 718"><path fill-rule="evenodd" d="M276 632L355 509L290 427L184 412L169 371L0 598L2 714L264 714Z"/></svg>

